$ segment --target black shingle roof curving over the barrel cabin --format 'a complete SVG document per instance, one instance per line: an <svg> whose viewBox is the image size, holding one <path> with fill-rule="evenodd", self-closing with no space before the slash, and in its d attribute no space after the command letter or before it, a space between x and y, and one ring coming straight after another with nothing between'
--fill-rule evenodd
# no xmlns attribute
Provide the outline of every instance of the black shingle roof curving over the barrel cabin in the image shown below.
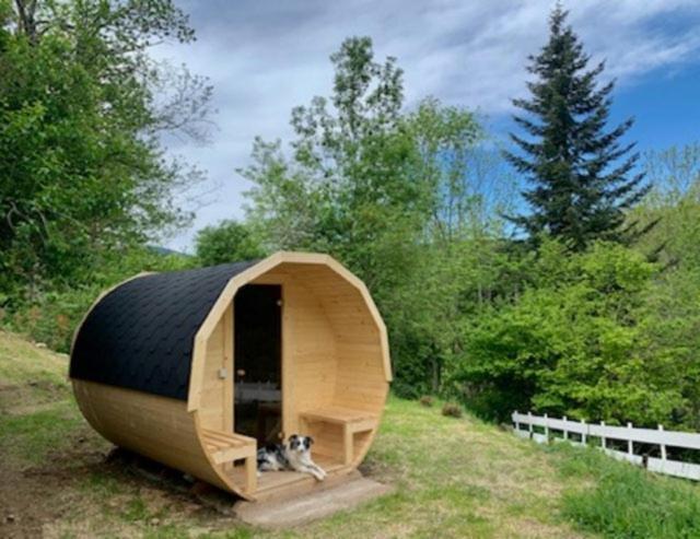
<svg viewBox="0 0 700 539"><path fill-rule="evenodd" d="M195 335L232 277L257 260L133 279L80 328L70 376L187 399Z"/></svg>

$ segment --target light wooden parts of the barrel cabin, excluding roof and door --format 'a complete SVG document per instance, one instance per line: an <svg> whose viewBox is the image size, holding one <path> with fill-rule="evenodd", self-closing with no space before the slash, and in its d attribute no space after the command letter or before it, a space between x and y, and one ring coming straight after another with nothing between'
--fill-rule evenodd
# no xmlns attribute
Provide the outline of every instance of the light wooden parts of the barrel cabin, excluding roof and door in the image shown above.
<svg viewBox="0 0 700 539"><path fill-rule="evenodd" d="M83 414L107 440L253 500L276 484L258 488L252 447L228 437L235 430L233 302L248 283L282 286L284 434L313 434L314 454L335 474L350 473L384 410L388 339L366 286L327 255L277 253L229 281L195 336L186 402L83 380L73 388Z"/></svg>

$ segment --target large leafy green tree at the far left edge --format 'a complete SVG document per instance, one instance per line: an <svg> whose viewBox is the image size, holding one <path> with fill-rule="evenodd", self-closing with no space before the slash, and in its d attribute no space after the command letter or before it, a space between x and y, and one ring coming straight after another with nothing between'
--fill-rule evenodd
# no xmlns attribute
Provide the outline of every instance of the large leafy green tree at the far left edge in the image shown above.
<svg viewBox="0 0 700 539"><path fill-rule="evenodd" d="M199 174L166 160L159 134L202 134L210 89L148 57L155 42L192 39L168 0L2 7L0 293L32 302L189 220L174 196ZM173 77L182 92L164 99Z"/></svg>

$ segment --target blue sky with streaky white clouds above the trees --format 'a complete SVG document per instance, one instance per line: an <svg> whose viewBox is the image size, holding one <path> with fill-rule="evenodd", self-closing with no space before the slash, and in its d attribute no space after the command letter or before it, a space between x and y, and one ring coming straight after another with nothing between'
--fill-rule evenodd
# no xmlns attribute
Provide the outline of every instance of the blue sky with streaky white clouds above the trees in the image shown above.
<svg viewBox="0 0 700 539"><path fill-rule="evenodd" d="M289 113L328 93L328 56L349 35L369 35L376 56L405 70L407 106L433 95L479 112L497 134L525 94L525 61L547 38L549 0L177 0L198 40L163 45L159 59L186 63L214 86L217 129L208 145L168 140L202 168L203 206L190 230L164 242L191 248L194 232L244 214L249 188L235 173L253 138L289 137ZM700 141L700 0L570 0L570 22L605 77L618 81L612 120L634 116L640 150ZM183 204L186 204L183 198Z"/></svg>

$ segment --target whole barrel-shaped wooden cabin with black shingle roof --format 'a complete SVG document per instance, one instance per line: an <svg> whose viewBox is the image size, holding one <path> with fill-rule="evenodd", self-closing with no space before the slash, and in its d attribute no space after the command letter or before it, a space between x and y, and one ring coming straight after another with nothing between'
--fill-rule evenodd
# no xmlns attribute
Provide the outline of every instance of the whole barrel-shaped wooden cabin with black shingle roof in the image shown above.
<svg viewBox="0 0 700 539"><path fill-rule="evenodd" d="M386 329L366 286L327 255L142 273L75 332L70 377L105 438L247 500L315 479L256 473L256 452L313 436L328 477L362 461L384 409Z"/></svg>

